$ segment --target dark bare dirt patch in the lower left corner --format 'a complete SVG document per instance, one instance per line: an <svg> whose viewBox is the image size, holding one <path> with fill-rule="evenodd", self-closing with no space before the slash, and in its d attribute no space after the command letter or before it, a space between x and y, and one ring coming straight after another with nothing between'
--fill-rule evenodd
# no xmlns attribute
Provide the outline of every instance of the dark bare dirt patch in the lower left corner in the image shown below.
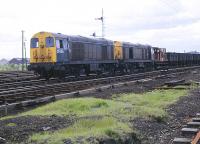
<svg viewBox="0 0 200 144"><path fill-rule="evenodd" d="M23 116L0 121L0 137L9 141L22 142L29 135L42 131L54 131L73 124L74 116L36 117ZM12 125L12 124L15 125ZM1 143L1 142L0 142Z"/></svg>

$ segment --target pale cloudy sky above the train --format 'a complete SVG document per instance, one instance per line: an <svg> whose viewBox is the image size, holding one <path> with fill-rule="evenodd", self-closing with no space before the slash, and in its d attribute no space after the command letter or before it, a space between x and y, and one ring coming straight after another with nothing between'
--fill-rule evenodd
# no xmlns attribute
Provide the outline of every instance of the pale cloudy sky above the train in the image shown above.
<svg viewBox="0 0 200 144"><path fill-rule="evenodd" d="M21 57L21 31L27 57L30 39L40 31L105 38L200 52L200 0L0 0L0 59Z"/></svg>

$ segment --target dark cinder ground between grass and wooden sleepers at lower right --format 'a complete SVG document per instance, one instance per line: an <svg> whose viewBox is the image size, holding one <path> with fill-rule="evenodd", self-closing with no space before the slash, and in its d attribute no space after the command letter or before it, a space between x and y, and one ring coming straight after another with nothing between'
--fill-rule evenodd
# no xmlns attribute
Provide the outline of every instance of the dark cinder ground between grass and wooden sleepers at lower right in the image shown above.
<svg viewBox="0 0 200 144"><path fill-rule="evenodd" d="M180 130L197 112L200 112L200 89L182 97L176 104L167 108L169 118L165 122L137 118L133 123L144 144L171 144L180 137Z"/></svg>

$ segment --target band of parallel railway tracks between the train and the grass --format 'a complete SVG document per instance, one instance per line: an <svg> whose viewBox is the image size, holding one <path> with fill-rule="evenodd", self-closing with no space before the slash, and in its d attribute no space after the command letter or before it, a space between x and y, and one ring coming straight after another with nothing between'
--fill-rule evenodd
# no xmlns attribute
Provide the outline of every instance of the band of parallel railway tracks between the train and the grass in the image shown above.
<svg viewBox="0 0 200 144"><path fill-rule="evenodd" d="M172 73L185 73L188 70L200 67L185 67L169 69L167 71L153 71L139 74L130 74L115 77L106 77L98 79L89 79L73 82L58 82L57 79L20 81L14 83L0 84L0 109L9 107L9 105L20 105L24 101L41 99L48 96L56 96L64 93L77 92L96 86L104 86L113 83L134 81L146 78L166 77Z"/></svg>

